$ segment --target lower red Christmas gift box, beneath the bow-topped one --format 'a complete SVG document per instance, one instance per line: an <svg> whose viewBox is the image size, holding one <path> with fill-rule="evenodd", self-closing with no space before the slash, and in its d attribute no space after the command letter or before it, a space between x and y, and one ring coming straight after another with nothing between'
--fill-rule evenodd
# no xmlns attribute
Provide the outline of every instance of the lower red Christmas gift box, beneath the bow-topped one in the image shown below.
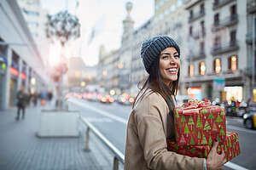
<svg viewBox="0 0 256 170"><path fill-rule="evenodd" d="M212 148L212 145L178 146L175 142L167 140L167 147L168 150L174 151L183 156L206 158ZM218 144L218 154L220 154L221 149L224 150L227 161L238 156L240 154L238 134L227 132L225 144Z"/></svg>

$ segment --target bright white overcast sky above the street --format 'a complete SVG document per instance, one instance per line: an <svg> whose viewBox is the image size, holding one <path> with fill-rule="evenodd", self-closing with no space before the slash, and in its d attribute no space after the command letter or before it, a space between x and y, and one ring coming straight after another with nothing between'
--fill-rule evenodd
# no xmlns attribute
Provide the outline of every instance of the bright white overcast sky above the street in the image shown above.
<svg viewBox="0 0 256 170"><path fill-rule="evenodd" d="M67 55L82 56L86 65L96 65L98 51L103 44L107 51L119 48L127 0L42 0L43 8L55 14L68 7L72 14L77 14L81 23L81 37L70 44ZM154 14L154 0L131 0L133 8L131 18L135 27L142 26ZM90 41L91 31L95 29L95 37Z"/></svg>

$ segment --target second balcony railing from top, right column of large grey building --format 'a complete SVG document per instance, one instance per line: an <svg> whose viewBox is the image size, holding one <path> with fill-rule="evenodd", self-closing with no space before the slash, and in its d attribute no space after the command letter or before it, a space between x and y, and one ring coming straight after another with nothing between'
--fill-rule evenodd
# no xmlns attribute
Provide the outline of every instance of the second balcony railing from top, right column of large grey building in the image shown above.
<svg viewBox="0 0 256 170"><path fill-rule="evenodd" d="M232 14L224 20L220 20L219 22L213 23L212 31L219 31L222 28L225 28L227 26L233 26L238 23L238 14Z"/></svg>

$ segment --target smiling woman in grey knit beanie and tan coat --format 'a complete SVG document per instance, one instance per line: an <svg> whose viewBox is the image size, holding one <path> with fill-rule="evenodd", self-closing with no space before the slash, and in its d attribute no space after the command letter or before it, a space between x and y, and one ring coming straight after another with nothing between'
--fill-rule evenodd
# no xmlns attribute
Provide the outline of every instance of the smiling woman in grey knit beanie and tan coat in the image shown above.
<svg viewBox="0 0 256 170"><path fill-rule="evenodd" d="M153 37L143 42L141 55L149 76L137 94L127 124L125 170L212 170L223 166L224 151L218 155L216 140L207 159L167 150L166 139L175 141L173 112L180 75L177 43L171 37Z"/></svg>

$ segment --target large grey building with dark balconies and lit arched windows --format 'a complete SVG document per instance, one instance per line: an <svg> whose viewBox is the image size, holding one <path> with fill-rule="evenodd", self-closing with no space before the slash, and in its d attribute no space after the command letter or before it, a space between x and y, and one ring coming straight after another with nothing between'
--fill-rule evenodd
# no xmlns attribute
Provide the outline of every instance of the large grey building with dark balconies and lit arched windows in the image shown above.
<svg viewBox="0 0 256 170"><path fill-rule="evenodd" d="M190 0L184 5L189 37L186 93L198 99L247 99L246 3Z"/></svg>

